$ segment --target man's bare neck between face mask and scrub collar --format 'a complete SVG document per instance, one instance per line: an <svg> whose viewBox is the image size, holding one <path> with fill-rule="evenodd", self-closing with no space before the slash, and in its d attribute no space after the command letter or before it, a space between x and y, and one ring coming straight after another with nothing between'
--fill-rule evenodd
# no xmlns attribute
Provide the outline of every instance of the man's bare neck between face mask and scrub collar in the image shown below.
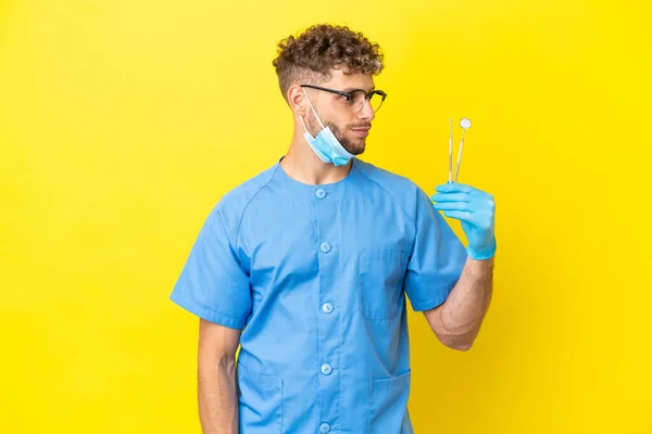
<svg viewBox="0 0 652 434"><path fill-rule="evenodd" d="M280 166L290 178L312 186L341 181L351 170L351 162L344 166L335 166L321 161L303 136L297 132Z"/></svg>

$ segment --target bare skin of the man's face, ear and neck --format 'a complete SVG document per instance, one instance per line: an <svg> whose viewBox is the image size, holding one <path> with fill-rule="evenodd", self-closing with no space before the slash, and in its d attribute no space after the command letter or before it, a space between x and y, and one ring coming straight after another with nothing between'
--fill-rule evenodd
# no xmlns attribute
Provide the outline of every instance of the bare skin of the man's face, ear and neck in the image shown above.
<svg viewBox="0 0 652 434"><path fill-rule="evenodd" d="M303 84L341 91L363 89L369 92L374 89L373 76L371 74L343 74L341 69L331 69L327 81L298 82L287 91L288 104L293 114L294 131L290 149L280 162L280 166L288 176L299 182L313 186L337 182L349 174L351 162L343 166L324 163L305 141L303 137L305 129L301 123L301 116L313 137L322 129L306 100L306 93L322 124L330 127L342 148L353 155L360 155L365 150L368 130L375 117L374 111L367 102L361 111L355 113L349 107L343 97L323 90L302 88L300 85Z"/></svg>

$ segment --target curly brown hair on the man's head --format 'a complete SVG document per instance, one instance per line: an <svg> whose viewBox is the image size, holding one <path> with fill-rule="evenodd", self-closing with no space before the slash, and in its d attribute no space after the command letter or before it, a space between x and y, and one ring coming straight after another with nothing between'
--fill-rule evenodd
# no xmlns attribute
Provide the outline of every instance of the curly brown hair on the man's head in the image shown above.
<svg viewBox="0 0 652 434"><path fill-rule="evenodd" d="M344 74L378 75L385 66L377 43L347 26L328 24L317 24L299 37L283 39L278 42L277 54L272 64L286 101L292 85L324 82L334 68L341 68Z"/></svg>

